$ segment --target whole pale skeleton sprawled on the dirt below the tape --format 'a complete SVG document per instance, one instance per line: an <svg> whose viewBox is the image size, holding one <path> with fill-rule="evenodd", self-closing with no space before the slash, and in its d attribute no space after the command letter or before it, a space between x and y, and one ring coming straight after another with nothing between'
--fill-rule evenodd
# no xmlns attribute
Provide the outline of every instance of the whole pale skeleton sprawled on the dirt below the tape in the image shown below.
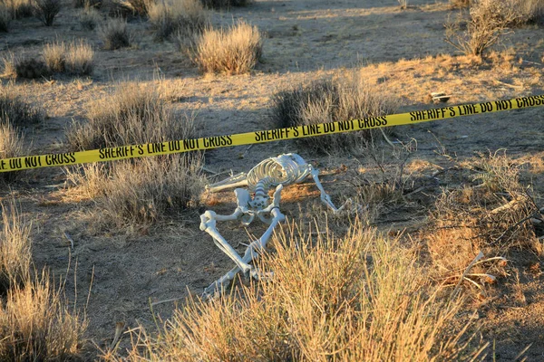
<svg viewBox="0 0 544 362"><path fill-rule="evenodd" d="M226 180L209 186L210 192L218 192L237 186L248 186L249 191L254 193L254 197L251 198L248 190L236 188L234 194L236 195L238 207L234 213L221 215L209 210L200 215L200 230L209 233L219 249L225 252L236 264L232 270L228 271L219 280L214 281L204 290L204 297L209 298L216 292L223 291L239 271L255 279L265 277L257 268L249 265L249 262L256 258L258 252L263 251L266 247L268 239L272 236L277 224L286 219L286 216L279 210L281 190L284 186L298 184L306 179L307 176L312 176L317 188L321 192L321 201L325 205L334 213L340 212L345 207L345 205L342 205L340 208L335 207L330 196L325 193L318 175L319 171L307 164L302 157L290 153L267 158L256 167L253 167L248 174L241 173L231 176ZM276 191L274 192L272 202L268 204L269 197L267 191L272 187L276 187ZM259 239L248 245L244 256L240 256L219 233L216 227L217 222L240 220L242 224L248 225L255 219L255 216L262 222L269 224L269 226L267 231Z"/></svg>

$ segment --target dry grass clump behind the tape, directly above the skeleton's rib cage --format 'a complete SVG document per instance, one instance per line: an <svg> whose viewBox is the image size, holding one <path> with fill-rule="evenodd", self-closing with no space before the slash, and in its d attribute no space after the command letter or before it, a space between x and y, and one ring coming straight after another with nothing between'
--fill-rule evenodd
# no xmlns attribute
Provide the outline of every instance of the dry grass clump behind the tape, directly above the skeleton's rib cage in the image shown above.
<svg viewBox="0 0 544 362"><path fill-rule="evenodd" d="M382 117L395 109L393 100L366 84L360 75L347 74L278 92L272 99L271 115L279 127L296 127ZM379 122L381 124L382 120ZM377 120L374 125L378 125ZM329 153L361 145L364 139L371 138L371 134L370 130L364 130L301 138L300 142L306 148Z"/></svg>

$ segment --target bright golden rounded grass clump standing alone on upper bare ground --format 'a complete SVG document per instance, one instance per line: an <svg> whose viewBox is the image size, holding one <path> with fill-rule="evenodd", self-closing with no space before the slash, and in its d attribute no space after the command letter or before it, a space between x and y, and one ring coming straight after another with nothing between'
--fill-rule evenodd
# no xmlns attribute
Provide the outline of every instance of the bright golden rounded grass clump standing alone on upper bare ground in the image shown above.
<svg viewBox="0 0 544 362"><path fill-rule="evenodd" d="M228 29L209 28L196 40L194 62L203 72L242 74L257 65L262 46L257 26L239 22Z"/></svg>

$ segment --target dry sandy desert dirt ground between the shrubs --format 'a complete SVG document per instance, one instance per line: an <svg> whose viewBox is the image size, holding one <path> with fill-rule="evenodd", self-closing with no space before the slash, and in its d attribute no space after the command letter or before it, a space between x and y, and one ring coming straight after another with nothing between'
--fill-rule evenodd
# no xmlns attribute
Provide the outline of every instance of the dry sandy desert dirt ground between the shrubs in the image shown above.
<svg viewBox="0 0 544 362"><path fill-rule="evenodd" d="M87 39L96 50L92 77L16 81L26 99L42 106L49 116L44 124L27 130L28 148L41 153L62 150L65 127L72 121L83 121L86 105L106 96L116 81L123 80L146 81L173 90L172 107L195 112L203 136L275 128L269 109L277 90L345 70L360 71L379 91L398 100L399 111L435 107L426 101L432 91L448 92L452 104L544 91L542 27L516 29L496 47L498 52L491 60L480 62L457 56L443 41L443 23L452 14L446 2L414 0L410 4L401 10L393 0L257 0L245 8L214 13L216 25L244 19L266 34L263 62L250 74L233 77L199 74L173 43L154 42L148 24L140 20L130 23L135 34L133 47L103 51L96 33L81 30L76 11L68 5L53 27L44 27L34 19L13 22L10 33L0 33L0 52L38 55L44 43L73 38ZM162 81L153 80L157 72ZM454 177L424 182L440 167L451 166L450 157L462 160L477 152L505 148L526 171L524 182L532 184L540 195L544 191L541 108L397 128L391 138L417 140L408 169L414 178L423 180L418 186L425 188L410 198L409 208L385 208L376 220L384 230L416 230L428 214L428 199L440 187L456 186L447 181ZM382 148L387 156L388 146ZM217 172L239 172L263 158L296 152L323 171L325 189L337 203L355 193L350 187L354 175L364 172L373 179L379 174L369 157L316 156L292 141L246 150L209 151L206 166ZM385 157L384 163L392 161ZM209 236L199 231L199 212L234 209L230 192L205 196L199 211L172 217L151 229L109 230L93 222L100 210L92 200L73 195L65 180L60 168L29 171L24 181L4 186L0 195L3 200L15 196L24 215L33 221L34 262L38 268L49 266L57 276L67 274L69 300L83 308L93 279L86 314L89 337L96 346L104 348L111 342L116 322L152 327L150 303L182 302L189 292L199 293L231 268L232 263ZM288 189L285 213L293 220L325 214L315 196L312 184ZM542 199L537 201L543 203ZM239 224L227 224L221 230L228 240L246 243L248 233L258 235L263 228L257 225L246 230ZM64 233L72 236L73 250ZM529 271L539 260L539 255L522 253L516 259L519 282L504 278L492 303L474 304L482 338L496 341L498 360L512 360L529 343L527 360L544 360L542 276ZM71 270L66 273L69 264ZM162 302L153 310L165 319L176 303ZM96 349L88 349L85 357L96 357Z"/></svg>

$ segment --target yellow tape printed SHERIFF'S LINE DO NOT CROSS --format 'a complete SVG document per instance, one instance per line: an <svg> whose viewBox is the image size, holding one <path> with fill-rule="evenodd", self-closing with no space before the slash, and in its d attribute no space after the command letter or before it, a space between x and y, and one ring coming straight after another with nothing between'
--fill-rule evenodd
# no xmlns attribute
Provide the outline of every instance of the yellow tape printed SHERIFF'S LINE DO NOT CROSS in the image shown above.
<svg viewBox="0 0 544 362"><path fill-rule="evenodd" d="M259 130L233 135L171 140L144 145L100 148L81 152L68 152L51 155L37 155L0 159L0 172L18 171L29 168L57 167L91 162L113 161L125 158L169 155L174 153L224 148L272 142L281 139L305 138L333 133L353 132L361 129L401 126L428 122L438 119L471 116L474 114L520 110L544 106L544 95L521 97L513 100L494 100L476 104L462 104L431 110L416 110L409 113L392 114L384 117L349 119L287 129Z"/></svg>

